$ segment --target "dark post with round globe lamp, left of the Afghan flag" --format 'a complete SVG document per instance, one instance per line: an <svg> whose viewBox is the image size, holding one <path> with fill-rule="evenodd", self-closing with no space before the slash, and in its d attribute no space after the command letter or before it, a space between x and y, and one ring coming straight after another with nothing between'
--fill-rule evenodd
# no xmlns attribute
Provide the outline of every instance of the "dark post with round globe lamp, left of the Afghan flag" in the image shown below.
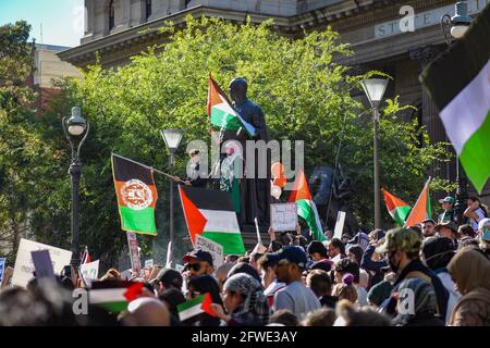
<svg viewBox="0 0 490 348"><path fill-rule="evenodd" d="M88 122L82 117L78 107L72 108L72 115L63 117L63 132L70 142L72 149L72 161L70 163L69 173L72 177L72 260L74 268L79 265L79 248L78 248L78 204L79 204L79 177L82 175L82 162L79 160L79 149L88 135Z"/></svg>

